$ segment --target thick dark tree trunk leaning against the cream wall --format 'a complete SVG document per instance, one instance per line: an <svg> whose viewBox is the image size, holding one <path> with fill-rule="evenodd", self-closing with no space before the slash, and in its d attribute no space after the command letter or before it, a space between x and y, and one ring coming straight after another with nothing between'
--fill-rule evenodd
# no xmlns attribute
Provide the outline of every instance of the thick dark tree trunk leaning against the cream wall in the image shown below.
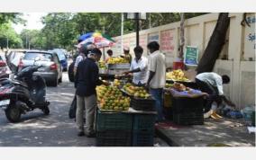
<svg viewBox="0 0 256 160"><path fill-rule="evenodd" d="M228 13L220 13L215 30L208 42L203 57L197 66L197 74L203 72L212 72L215 67L215 61L219 57L225 43L226 31L229 27L230 18Z"/></svg>

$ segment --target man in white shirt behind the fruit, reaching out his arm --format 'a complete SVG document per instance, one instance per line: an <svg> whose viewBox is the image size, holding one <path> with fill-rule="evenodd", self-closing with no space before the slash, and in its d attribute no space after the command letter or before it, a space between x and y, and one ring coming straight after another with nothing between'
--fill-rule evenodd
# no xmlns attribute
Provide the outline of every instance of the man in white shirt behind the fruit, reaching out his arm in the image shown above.
<svg viewBox="0 0 256 160"><path fill-rule="evenodd" d="M135 58L133 58L130 71L124 72L125 75L133 74L133 84L145 86L148 81L148 58L142 57L143 49L137 46L133 49Z"/></svg>

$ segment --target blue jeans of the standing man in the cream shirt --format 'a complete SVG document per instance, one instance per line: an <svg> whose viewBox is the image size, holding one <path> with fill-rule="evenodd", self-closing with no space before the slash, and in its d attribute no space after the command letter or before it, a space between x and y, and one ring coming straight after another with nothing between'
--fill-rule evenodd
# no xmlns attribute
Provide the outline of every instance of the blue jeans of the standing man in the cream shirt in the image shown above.
<svg viewBox="0 0 256 160"><path fill-rule="evenodd" d="M158 89L151 88L150 93L153 96L153 98L156 100L155 108L156 108L156 111L158 112L157 121L162 121L162 120L164 120L163 113L162 113L163 89L162 88L158 88Z"/></svg>

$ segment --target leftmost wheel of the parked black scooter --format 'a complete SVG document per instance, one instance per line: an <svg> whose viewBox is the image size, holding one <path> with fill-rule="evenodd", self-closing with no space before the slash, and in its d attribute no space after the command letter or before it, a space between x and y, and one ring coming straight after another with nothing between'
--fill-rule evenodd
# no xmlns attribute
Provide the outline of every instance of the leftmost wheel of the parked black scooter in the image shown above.
<svg viewBox="0 0 256 160"><path fill-rule="evenodd" d="M15 104L10 104L5 110L5 116L7 120L13 123L20 121L21 114L21 110Z"/></svg>

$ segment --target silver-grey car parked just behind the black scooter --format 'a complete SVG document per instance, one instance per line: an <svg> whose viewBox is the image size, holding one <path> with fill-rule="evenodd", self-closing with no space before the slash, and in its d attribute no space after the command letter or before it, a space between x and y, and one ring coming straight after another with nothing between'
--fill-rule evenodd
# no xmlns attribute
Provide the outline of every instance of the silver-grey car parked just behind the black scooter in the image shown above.
<svg viewBox="0 0 256 160"><path fill-rule="evenodd" d="M34 59L39 57L37 65L42 66L34 75L42 76L45 81L53 86L62 82L62 67L55 52L30 50L26 51L24 58L20 61L19 70L23 67L32 66Z"/></svg>

